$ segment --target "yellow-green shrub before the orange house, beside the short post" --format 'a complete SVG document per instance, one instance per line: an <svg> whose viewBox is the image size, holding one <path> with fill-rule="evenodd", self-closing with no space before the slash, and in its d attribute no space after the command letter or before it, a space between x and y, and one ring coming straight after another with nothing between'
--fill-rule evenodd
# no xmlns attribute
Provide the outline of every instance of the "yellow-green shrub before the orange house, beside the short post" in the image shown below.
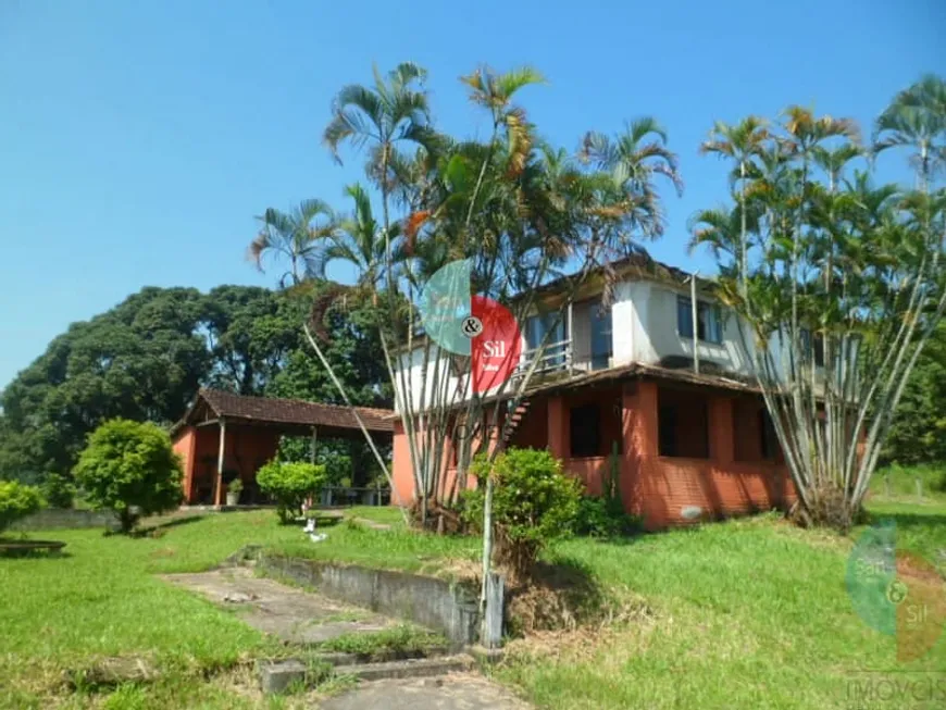
<svg viewBox="0 0 946 710"><path fill-rule="evenodd" d="M463 515L474 530L483 527L482 485L489 462L477 457L471 465L481 486L464 494ZM493 521L496 559L525 573L549 541L571 534L581 501L582 484L562 472L561 461L546 450L512 448L493 465Z"/></svg>

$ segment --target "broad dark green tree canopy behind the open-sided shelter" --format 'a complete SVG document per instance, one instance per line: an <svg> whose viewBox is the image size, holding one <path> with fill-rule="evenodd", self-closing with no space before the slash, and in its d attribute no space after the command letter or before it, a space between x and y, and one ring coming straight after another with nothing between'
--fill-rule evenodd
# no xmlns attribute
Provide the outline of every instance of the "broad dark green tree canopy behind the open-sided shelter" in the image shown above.
<svg viewBox="0 0 946 710"><path fill-rule="evenodd" d="M301 324L320 288L148 287L71 325L0 394L0 478L66 474L102 422L171 424L201 386L335 401L303 352ZM384 406L389 387L377 384L376 335L359 329L362 308L352 298L325 313L327 347L356 400Z"/></svg>

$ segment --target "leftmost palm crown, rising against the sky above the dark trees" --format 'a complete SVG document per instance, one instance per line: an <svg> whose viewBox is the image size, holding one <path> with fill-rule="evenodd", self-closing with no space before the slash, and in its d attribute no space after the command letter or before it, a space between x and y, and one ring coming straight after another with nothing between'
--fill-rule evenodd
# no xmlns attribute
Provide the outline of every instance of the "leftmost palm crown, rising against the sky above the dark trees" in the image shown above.
<svg viewBox="0 0 946 710"><path fill-rule="evenodd" d="M288 260L289 269L279 276L281 288L298 286L319 272L322 241L335 231L335 214L327 203L303 200L289 212L269 208L256 219L262 222L262 227L250 242L248 258L260 271L267 256Z"/></svg>

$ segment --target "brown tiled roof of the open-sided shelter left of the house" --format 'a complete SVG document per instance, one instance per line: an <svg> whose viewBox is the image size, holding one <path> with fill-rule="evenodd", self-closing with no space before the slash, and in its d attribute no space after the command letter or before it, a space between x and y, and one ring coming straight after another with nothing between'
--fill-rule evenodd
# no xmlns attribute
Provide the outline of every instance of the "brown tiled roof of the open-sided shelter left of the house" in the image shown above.
<svg viewBox="0 0 946 710"><path fill-rule="evenodd" d="M276 397L247 397L221 389L201 389L197 401L185 415L198 409L200 401L207 403L219 418L228 421L245 420L247 423L285 424L288 426L323 426L358 429L358 421L349 407L308 402L301 399ZM393 432L394 412L389 409L356 407L361 421L370 432Z"/></svg>

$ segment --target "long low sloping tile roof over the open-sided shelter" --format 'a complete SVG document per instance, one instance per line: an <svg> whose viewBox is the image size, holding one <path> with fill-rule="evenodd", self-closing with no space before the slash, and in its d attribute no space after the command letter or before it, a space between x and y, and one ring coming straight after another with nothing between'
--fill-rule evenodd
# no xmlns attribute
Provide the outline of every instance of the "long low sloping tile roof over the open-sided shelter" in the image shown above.
<svg viewBox="0 0 946 710"><path fill-rule="evenodd" d="M287 434L308 433L315 427L326 436L361 436L352 409L358 411L369 432L394 432L394 412L389 409L350 408L302 399L248 397L221 389L201 389L171 433L174 435L184 426L223 419L233 423L275 426Z"/></svg>

